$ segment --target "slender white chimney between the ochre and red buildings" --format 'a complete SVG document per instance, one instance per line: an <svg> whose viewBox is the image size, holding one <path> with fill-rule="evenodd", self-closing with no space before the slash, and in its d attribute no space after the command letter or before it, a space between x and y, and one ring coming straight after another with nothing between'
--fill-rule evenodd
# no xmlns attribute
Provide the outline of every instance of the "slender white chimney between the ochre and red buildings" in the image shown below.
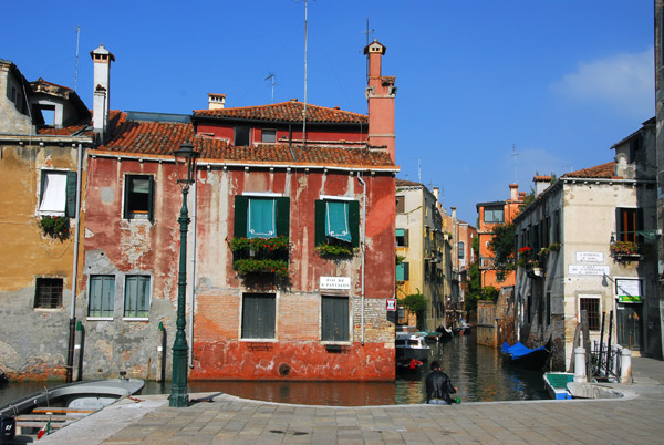
<svg viewBox="0 0 664 445"><path fill-rule="evenodd" d="M94 62L94 92L93 92L93 128L102 136L102 142L108 127L108 110L111 104L111 62L115 56L100 44L90 52Z"/></svg>

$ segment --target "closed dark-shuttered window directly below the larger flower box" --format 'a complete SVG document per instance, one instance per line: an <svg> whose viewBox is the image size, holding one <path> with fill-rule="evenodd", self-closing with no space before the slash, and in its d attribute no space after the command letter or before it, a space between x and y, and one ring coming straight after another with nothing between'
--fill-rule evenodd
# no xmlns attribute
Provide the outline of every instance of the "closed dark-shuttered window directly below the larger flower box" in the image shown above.
<svg viewBox="0 0 664 445"><path fill-rule="evenodd" d="M273 339L277 299L274 293L242 296L242 339Z"/></svg>

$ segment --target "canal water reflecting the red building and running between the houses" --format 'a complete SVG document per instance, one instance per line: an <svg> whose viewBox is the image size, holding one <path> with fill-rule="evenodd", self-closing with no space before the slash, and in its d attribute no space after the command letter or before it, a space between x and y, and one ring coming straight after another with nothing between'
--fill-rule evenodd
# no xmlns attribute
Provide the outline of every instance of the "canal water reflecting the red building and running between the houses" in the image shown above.
<svg viewBox="0 0 664 445"><path fill-rule="evenodd" d="M475 335L455 337L429 343L457 395L465 402L522 401L549 399L542 372L520 370L502 363L500 351L477 345ZM189 382L189 393L219 392L269 402L362 406L424 403L424 379L428 363L417 371L397 373L395 382ZM0 387L0 406L20 396L61 383L10 382ZM166 394L170 382L146 382L143 394Z"/></svg>

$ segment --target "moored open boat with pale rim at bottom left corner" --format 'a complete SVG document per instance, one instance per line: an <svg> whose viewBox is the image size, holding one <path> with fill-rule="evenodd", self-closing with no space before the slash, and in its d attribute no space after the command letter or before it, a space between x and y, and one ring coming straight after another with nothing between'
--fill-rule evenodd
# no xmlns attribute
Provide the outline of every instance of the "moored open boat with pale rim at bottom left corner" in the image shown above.
<svg viewBox="0 0 664 445"><path fill-rule="evenodd" d="M41 437L43 432L62 428L121 397L137 394L143 386L143 380L117 379L75 382L45 389L0 406L3 438L7 433L11 435L10 441L32 442L37 436Z"/></svg>

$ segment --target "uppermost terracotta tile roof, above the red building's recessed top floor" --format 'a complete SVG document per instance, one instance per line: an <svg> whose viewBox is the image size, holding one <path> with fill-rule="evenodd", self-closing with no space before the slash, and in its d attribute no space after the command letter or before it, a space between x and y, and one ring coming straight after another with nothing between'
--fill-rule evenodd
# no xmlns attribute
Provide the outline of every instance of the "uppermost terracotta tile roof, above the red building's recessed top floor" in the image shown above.
<svg viewBox="0 0 664 445"><path fill-rule="evenodd" d="M267 122L302 122L302 102L281 102L271 105L245 106L237 108L195 110L194 116L214 116L220 118L250 118ZM338 108L328 108L307 104L307 122L336 124L366 124L364 114L351 113Z"/></svg>

